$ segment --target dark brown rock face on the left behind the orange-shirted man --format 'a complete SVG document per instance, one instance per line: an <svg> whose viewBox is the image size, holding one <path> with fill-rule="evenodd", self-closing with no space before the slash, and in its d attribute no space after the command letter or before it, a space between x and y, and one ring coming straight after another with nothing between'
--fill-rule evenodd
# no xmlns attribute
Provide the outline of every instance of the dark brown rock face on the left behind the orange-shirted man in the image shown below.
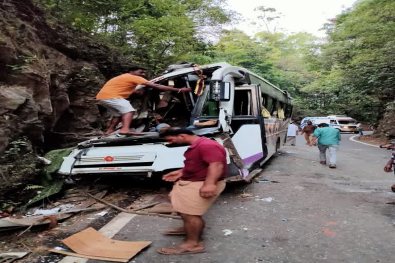
<svg viewBox="0 0 395 263"><path fill-rule="evenodd" d="M31 1L0 3L0 154L27 136L39 148L75 145L104 125L95 95L132 64Z"/></svg>

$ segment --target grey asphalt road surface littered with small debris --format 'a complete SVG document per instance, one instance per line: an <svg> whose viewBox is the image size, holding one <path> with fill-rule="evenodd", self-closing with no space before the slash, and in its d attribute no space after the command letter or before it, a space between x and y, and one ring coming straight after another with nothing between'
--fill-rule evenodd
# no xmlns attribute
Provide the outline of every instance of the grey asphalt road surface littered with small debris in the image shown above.
<svg viewBox="0 0 395 263"><path fill-rule="evenodd" d="M157 254L182 240L160 234L179 223L166 218L136 216L114 238L153 241L135 263L393 262L395 205L385 202L395 200L395 178L383 172L390 152L351 136L342 134L337 169L319 164L317 147L298 136L265 165L260 178L268 182L229 184L205 216L206 253ZM254 197L238 197L243 190ZM267 197L273 201L261 200Z"/></svg>

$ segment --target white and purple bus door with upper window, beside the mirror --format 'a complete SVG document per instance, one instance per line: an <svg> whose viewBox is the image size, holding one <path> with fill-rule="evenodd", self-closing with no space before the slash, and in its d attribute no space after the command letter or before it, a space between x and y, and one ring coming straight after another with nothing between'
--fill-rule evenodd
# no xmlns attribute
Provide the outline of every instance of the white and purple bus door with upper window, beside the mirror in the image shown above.
<svg viewBox="0 0 395 263"><path fill-rule="evenodd" d="M246 168L255 166L267 156L264 123L261 116L259 85L235 87L235 100L230 127L232 142Z"/></svg>

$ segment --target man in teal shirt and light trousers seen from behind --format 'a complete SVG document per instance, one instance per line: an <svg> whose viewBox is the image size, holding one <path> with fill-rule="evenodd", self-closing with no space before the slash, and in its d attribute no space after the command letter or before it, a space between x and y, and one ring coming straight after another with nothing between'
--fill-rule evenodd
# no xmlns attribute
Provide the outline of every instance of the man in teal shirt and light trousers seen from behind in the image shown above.
<svg viewBox="0 0 395 263"><path fill-rule="evenodd" d="M318 139L319 159L321 164L327 164L327 149L329 149L329 167L336 168L337 149L342 140L340 130L330 128L327 123L318 124L309 146L313 146Z"/></svg>

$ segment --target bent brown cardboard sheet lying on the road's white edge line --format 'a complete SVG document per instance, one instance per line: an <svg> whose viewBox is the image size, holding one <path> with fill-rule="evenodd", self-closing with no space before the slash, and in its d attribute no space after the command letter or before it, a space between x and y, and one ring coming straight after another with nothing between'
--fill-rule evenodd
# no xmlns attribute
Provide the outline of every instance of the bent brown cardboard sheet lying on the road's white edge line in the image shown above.
<svg viewBox="0 0 395 263"><path fill-rule="evenodd" d="M103 236L93 228L87 228L62 242L78 254L96 257L130 259L151 241L119 241Z"/></svg>

